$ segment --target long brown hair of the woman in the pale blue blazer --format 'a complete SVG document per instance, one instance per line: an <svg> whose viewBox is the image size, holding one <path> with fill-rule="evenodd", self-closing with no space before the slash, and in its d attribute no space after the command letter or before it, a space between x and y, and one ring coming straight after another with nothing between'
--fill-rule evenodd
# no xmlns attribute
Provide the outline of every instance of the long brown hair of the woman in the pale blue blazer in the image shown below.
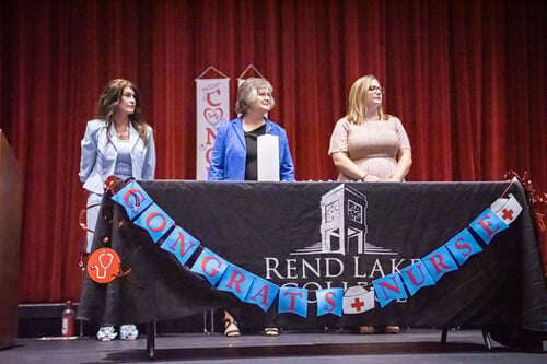
<svg viewBox="0 0 547 364"><path fill-rule="evenodd" d="M144 142L144 145L147 145L147 132L149 125L144 122L144 119L142 117L139 90L131 81L115 79L106 84L103 92L101 93L101 96L98 97L96 117L106 121L106 130L110 129L110 126L114 122L114 110L121 99L125 87L131 87L135 92L135 111L133 114L129 115L129 121L133 126L135 130L139 132L139 137ZM109 140L108 133L106 134Z"/></svg>

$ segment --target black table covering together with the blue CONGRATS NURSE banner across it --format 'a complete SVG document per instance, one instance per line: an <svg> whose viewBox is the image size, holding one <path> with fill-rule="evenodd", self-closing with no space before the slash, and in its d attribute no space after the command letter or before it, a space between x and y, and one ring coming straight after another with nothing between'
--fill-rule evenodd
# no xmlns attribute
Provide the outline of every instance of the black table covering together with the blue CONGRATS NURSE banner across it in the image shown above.
<svg viewBox="0 0 547 364"><path fill-rule="evenodd" d="M95 248L112 244L131 273L86 283L81 315L141 322L237 305L314 327L539 325L536 240L508 185L128 184L116 208L103 201Z"/></svg>

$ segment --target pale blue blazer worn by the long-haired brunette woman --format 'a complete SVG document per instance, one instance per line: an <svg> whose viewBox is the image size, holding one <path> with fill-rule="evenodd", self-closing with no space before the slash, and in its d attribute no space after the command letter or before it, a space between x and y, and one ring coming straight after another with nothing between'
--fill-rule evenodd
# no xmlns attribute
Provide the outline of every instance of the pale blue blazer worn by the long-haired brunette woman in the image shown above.
<svg viewBox="0 0 547 364"><path fill-rule="evenodd" d="M107 132L110 140L108 141ZM152 128L147 131L148 145L139 137L139 132L129 124L129 144L131 145L132 176L136 179L153 179L155 172L155 146ZM118 156L118 140L114 128L106 130L105 120L88 121L82 139L82 157L80 160L80 180L90 192L103 195L103 184L114 175Z"/></svg>

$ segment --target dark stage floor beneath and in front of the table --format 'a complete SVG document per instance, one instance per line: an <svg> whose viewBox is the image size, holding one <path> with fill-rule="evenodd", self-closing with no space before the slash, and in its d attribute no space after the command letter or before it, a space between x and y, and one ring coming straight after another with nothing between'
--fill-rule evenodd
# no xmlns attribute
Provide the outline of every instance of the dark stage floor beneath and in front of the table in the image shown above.
<svg viewBox="0 0 547 364"><path fill-rule="evenodd" d="M399 334L348 332L284 332L277 338L220 333L161 334L155 339L156 362L191 363L545 363L547 355L509 350L492 341L487 351L478 330L409 329ZM0 363L150 363L147 339L98 342L19 339L16 347L0 351Z"/></svg>

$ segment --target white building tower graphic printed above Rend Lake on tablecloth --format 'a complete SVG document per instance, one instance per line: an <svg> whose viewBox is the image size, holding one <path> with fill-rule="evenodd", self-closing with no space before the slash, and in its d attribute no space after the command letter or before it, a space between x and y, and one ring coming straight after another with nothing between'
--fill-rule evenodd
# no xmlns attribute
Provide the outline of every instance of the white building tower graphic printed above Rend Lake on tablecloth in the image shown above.
<svg viewBox="0 0 547 364"><path fill-rule="evenodd" d="M366 196L341 184L321 198L321 242L291 255L397 255L366 242Z"/></svg>

